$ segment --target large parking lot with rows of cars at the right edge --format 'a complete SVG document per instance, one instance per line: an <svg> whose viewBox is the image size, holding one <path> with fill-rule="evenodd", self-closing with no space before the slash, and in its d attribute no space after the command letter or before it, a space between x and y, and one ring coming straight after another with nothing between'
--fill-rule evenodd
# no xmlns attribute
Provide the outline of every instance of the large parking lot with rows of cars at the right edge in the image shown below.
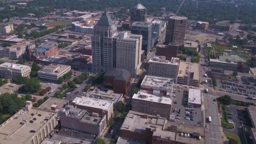
<svg viewBox="0 0 256 144"><path fill-rule="evenodd" d="M239 78L234 81L217 80L217 86L219 91L254 97L256 94L256 87L253 85L245 85L239 81L242 80L239 80Z"/></svg>

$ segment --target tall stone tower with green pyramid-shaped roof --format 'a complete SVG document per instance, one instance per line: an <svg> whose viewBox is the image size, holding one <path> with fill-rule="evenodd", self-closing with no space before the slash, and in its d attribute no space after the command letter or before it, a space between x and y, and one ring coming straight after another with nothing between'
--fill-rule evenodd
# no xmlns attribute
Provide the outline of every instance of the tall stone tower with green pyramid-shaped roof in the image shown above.
<svg viewBox="0 0 256 144"><path fill-rule="evenodd" d="M112 37L117 35L117 27L108 15L107 11L102 14L94 27L92 41L92 70L94 72L105 71L115 67L115 47Z"/></svg>

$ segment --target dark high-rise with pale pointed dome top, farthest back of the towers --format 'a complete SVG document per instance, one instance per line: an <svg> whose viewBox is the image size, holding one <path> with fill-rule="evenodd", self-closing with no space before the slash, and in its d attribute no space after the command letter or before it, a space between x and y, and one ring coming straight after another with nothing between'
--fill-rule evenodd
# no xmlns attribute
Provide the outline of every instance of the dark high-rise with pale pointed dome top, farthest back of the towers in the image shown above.
<svg viewBox="0 0 256 144"><path fill-rule="evenodd" d="M131 8L131 21L146 21L147 20L147 9L138 3Z"/></svg>

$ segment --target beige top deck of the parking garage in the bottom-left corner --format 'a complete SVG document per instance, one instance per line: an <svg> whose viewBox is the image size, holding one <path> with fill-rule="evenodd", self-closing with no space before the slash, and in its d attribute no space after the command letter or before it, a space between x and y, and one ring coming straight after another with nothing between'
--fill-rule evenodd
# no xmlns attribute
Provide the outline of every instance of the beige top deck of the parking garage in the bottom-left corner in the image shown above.
<svg viewBox="0 0 256 144"><path fill-rule="evenodd" d="M40 122L44 121L45 117L51 113L38 109L31 109L29 112L22 112L24 113L19 112L19 115L16 116L17 119L10 120L8 123L0 128L0 144L24 143L27 139L29 139L30 136L35 134L29 131L37 131L42 128L45 123ZM39 114L41 116L38 116ZM34 117L36 118L36 120L32 120L32 118ZM23 119L27 119L27 122L23 121ZM34 123L29 123L30 120L32 120ZM21 125L21 122L24 124Z"/></svg>

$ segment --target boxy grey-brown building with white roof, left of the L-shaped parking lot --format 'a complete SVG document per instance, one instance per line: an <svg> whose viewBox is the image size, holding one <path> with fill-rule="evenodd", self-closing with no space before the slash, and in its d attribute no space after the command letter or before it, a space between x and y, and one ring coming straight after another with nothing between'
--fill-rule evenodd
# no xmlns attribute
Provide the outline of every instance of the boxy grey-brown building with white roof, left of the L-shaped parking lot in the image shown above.
<svg viewBox="0 0 256 144"><path fill-rule="evenodd" d="M170 119L172 99L139 91L132 97L132 110Z"/></svg>

